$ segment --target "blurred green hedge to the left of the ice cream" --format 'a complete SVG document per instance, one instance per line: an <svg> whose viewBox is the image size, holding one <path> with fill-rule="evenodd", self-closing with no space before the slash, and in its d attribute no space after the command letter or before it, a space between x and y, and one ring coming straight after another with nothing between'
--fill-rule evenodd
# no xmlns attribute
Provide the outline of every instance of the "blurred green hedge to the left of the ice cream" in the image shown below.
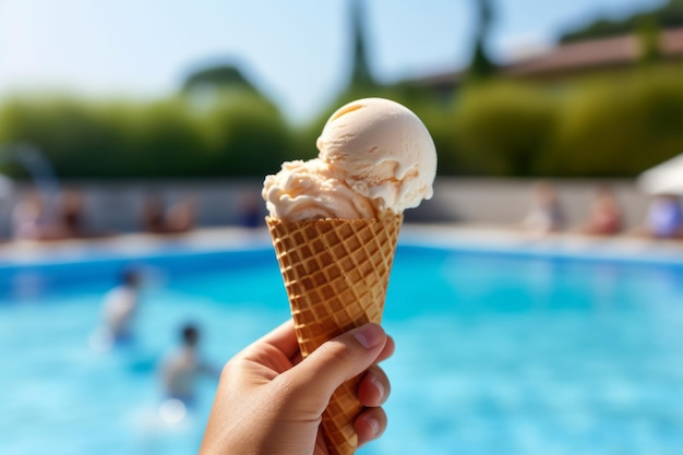
<svg viewBox="0 0 683 455"><path fill-rule="evenodd" d="M288 125L267 100L228 91L211 105L14 98L0 106L0 144L39 147L61 177L262 175L291 156Z"/></svg>

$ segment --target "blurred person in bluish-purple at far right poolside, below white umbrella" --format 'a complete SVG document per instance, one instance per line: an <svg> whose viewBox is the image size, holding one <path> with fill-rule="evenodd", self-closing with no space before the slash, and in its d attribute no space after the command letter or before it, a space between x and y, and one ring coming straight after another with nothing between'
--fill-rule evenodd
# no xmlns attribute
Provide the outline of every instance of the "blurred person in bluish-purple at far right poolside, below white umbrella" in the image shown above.
<svg viewBox="0 0 683 455"><path fill-rule="evenodd" d="M683 208L675 194L655 194L639 234L655 239L683 238Z"/></svg>

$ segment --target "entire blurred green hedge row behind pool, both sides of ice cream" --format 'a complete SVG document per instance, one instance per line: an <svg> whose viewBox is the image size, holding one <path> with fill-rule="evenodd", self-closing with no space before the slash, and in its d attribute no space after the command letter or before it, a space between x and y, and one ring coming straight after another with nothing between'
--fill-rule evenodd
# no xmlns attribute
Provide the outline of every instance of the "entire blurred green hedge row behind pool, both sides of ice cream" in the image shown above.
<svg viewBox="0 0 683 455"><path fill-rule="evenodd" d="M262 177L314 157L339 106L379 96L424 121L442 176L625 177L683 152L682 80L683 67L659 63L550 84L492 79L453 99L415 86L354 87L296 128L237 87L211 99L13 98L0 104L0 144L35 144L65 178Z"/></svg>

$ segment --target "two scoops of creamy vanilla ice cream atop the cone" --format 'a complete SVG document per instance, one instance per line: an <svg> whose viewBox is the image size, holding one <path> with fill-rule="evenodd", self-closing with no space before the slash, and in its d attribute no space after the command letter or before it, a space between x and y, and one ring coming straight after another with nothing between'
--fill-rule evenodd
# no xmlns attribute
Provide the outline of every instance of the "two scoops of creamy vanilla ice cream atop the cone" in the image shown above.
<svg viewBox="0 0 683 455"><path fill-rule="evenodd" d="M327 120L319 157L283 164L263 197L283 220L380 218L433 194L436 151L420 119L398 103L366 98Z"/></svg>

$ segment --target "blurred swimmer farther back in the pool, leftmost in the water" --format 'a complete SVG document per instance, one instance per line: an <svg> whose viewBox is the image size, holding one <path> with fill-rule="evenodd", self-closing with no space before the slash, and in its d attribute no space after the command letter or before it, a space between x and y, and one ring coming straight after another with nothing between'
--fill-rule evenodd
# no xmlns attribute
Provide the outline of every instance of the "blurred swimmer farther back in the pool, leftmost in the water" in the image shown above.
<svg viewBox="0 0 683 455"><path fill-rule="evenodd" d="M140 306L142 276L139 271L127 268L120 283L109 290L103 302L103 318L110 344L128 343L133 339L133 320Z"/></svg>

